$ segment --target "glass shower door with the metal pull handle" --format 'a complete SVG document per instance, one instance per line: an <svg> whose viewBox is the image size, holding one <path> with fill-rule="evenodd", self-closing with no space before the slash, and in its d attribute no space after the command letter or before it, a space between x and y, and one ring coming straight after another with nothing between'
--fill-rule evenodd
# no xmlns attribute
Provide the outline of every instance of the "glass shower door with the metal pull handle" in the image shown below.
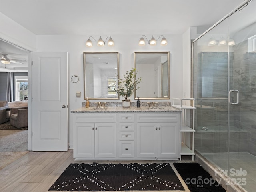
<svg viewBox="0 0 256 192"><path fill-rule="evenodd" d="M256 184L255 9L256 1L251 1L228 18L228 174L248 192Z"/></svg>

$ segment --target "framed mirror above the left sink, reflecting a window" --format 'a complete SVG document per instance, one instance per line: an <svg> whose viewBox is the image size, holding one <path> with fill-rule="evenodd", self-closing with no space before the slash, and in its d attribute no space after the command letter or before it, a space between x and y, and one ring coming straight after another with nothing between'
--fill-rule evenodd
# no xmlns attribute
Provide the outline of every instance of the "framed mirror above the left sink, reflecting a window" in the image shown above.
<svg viewBox="0 0 256 192"><path fill-rule="evenodd" d="M119 99L119 52L84 52L84 100Z"/></svg>

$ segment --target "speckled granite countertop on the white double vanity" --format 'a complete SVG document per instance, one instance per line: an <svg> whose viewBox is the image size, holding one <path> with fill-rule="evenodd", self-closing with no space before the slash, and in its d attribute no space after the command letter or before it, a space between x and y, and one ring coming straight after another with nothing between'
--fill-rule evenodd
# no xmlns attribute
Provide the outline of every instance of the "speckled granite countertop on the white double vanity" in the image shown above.
<svg viewBox="0 0 256 192"><path fill-rule="evenodd" d="M149 108L148 106L141 107L130 107L123 108L120 106L106 106L105 108L96 108L96 107L81 107L75 110L72 110L71 113L162 113L162 112L182 112L182 110L178 108L174 108L171 106L159 106L156 108Z"/></svg>

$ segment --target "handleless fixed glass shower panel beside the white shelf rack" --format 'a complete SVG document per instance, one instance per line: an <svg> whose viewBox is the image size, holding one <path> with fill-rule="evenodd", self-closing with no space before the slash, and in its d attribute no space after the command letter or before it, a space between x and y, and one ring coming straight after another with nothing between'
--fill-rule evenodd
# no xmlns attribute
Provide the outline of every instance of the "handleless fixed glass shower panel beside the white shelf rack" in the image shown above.
<svg viewBox="0 0 256 192"><path fill-rule="evenodd" d="M228 19L194 42L195 150L220 170L228 169Z"/></svg>

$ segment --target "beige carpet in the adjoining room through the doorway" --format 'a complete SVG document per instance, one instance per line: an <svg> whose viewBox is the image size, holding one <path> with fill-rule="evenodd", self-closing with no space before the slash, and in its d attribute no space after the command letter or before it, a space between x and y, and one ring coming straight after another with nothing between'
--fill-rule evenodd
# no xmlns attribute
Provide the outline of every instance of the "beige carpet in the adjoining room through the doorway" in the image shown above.
<svg viewBox="0 0 256 192"><path fill-rule="evenodd" d="M28 153L28 130L0 130L0 169Z"/></svg>

